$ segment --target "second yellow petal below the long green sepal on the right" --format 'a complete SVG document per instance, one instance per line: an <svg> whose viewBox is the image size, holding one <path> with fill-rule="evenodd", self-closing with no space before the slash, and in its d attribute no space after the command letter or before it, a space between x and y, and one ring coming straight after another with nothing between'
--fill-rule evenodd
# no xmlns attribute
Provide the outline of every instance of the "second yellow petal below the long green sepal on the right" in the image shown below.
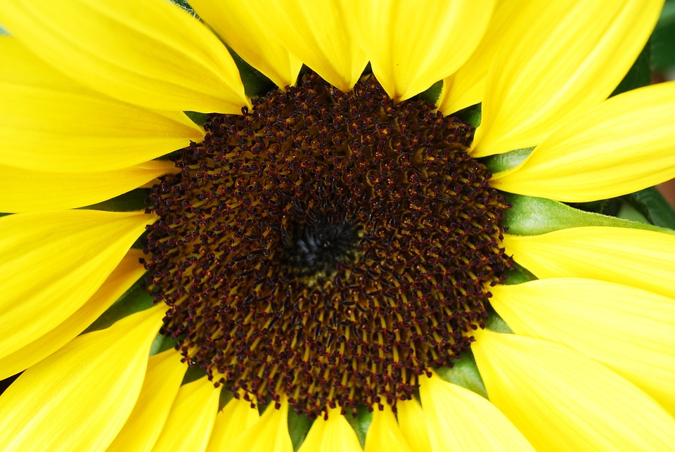
<svg viewBox="0 0 675 452"><path fill-rule="evenodd" d="M517 334L562 342L604 363L675 414L675 299L593 279L490 288Z"/></svg>

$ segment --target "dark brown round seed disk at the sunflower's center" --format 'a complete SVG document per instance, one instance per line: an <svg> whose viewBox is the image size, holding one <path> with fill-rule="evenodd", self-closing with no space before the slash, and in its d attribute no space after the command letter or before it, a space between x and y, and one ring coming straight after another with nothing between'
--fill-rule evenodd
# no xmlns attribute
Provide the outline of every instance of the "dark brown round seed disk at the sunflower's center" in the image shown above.
<svg viewBox="0 0 675 452"><path fill-rule="evenodd" d="M473 130L314 74L211 115L150 194L148 290L214 382L313 418L410 399L452 366L508 264Z"/></svg>

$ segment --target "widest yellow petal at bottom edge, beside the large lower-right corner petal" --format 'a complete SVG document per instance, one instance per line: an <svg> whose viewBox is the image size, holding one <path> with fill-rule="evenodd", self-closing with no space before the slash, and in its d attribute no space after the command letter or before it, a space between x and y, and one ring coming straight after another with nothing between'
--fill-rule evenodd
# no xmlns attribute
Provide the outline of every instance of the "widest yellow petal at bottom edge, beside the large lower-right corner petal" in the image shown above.
<svg viewBox="0 0 675 452"><path fill-rule="evenodd" d="M434 452L533 450L489 401L435 373L420 377L420 398Z"/></svg>

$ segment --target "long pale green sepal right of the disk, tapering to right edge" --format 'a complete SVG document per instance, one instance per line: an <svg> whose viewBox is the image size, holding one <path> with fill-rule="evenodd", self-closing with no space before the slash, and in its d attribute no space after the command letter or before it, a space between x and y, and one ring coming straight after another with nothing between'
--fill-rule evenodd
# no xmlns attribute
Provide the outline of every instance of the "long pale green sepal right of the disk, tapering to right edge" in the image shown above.
<svg viewBox="0 0 675 452"><path fill-rule="evenodd" d="M513 193L504 193L504 198L511 208L504 212L501 226L506 226L507 232L513 235L539 235L579 226L612 226L675 233L670 229L651 224L584 212L546 198L532 198Z"/></svg>

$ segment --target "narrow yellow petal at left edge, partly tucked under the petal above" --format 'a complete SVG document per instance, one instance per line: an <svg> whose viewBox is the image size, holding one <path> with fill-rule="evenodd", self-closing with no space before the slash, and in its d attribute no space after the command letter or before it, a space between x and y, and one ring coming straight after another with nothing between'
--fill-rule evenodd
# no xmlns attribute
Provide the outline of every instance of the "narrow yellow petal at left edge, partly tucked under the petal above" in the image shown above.
<svg viewBox="0 0 675 452"><path fill-rule="evenodd" d="M37 172L0 164L4 191L0 212L84 207L115 198L173 171L174 164L168 160L79 174Z"/></svg>

